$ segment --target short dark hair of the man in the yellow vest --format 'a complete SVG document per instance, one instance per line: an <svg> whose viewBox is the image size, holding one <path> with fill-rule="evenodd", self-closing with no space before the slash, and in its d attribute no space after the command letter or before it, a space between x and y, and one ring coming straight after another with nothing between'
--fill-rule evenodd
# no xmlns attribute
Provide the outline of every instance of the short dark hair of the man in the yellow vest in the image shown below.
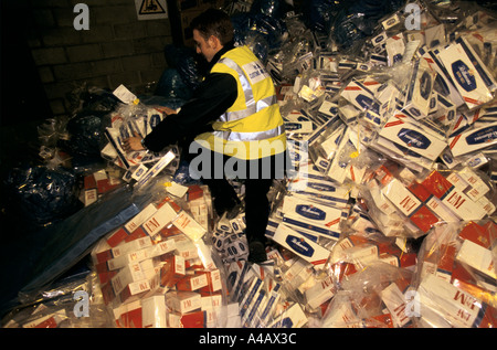
<svg viewBox="0 0 497 350"><path fill-rule="evenodd" d="M198 30L205 40L211 35L216 36L222 45L233 40L233 24L230 17L222 10L205 10L191 21L190 26L192 30Z"/></svg>

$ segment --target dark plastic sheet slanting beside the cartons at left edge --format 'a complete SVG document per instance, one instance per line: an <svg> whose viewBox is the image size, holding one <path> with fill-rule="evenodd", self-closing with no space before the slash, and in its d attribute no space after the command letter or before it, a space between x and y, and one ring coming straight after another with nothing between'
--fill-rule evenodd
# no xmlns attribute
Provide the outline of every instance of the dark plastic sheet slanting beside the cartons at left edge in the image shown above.
<svg viewBox="0 0 497 350"><path fill-rule="evenodd" d="M32 301L30 296L81 262L102 236L136 215L147 200L119 188L56 224L4 242L1 278L9 283L2 286L0 312L19 305L18 294L24 296L23 303Z"/></svg>

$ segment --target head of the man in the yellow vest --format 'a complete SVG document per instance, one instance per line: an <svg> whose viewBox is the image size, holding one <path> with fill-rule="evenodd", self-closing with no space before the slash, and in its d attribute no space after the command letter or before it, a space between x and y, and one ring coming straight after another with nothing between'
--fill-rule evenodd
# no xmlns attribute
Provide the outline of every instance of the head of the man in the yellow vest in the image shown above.
<svg viewBox="0 0 497 350"><path fill-rule="evenodd" d="M197 52L203 54L208 62L233 40L233 24L221 10L205 10L192 20L191 29Z"/></svg>

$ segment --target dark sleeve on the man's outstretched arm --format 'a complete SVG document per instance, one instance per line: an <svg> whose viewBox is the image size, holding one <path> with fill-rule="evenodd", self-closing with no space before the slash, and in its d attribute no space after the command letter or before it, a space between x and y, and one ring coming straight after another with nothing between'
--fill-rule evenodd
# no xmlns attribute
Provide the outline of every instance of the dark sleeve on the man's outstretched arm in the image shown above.
<svg viewBox="0 0 497 350"><path fill-rule="evenodd" d="M147 135L145 147L158 152L183 138L209 130L210 123L225 113L234 104L236 96L237 83L232 75L210 74L178 114L167 116Z"/></svg>

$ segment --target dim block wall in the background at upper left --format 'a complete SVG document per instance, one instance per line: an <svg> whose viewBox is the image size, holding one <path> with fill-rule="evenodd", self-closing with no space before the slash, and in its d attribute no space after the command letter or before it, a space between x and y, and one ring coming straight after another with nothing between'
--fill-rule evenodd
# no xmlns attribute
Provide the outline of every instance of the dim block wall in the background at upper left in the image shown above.
<svg viewBox="0 0 497 350"><path fill-rule="evenodd" d="M138 20L135 0L22 1L32 18L28 44L53 115L67 113L66 94L83 83L133 89L157 82L166 67L169 20ZM73 25L77 3L88 7L89 30Z"/></svg>

